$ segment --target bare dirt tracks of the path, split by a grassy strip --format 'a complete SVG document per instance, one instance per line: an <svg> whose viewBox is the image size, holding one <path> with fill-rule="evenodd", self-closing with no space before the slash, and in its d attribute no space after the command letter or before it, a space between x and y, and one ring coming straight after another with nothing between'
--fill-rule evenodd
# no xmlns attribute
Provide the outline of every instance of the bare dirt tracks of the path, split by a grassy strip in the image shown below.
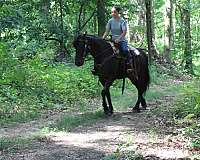
<svg viewBox="0 0 200 160"><path fill-rule="evenodd" d="M150 102L152 108L169 107L172 96ZM162 105L161 105L162 104ZM0 137L27 136L58 120L60 114L0 129ZM0 160L100 160L117 151L134 150L150 159L187 159L187 140L176 129L151 110L141 113L115 112L91 125L79 126L71 132L51 132L31 145L0 152ZM148 159L148 158L147 158Z"/></svg>

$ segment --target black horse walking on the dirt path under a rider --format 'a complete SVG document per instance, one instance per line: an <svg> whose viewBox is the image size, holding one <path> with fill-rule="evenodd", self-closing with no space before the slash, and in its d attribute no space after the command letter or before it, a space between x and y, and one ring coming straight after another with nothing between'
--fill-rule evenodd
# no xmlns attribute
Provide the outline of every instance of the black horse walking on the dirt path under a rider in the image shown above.
<svg viewBox="0 0 200 160"><path fill-rule="evenodd" d="M140 111L139 105L141 104L146 109L146 101L143 97L148 89L150 83L148 56L143 49L137 48L139 55L132 54L133 56L133 69L134 72L126 72L125 58L114 54L111 44L96 36L92 35L79 35L74 39L73 45L76 49L75 64L82 66L88 53L94 58L94 68L97 71L99 80L103 85L102 99L105 114L111 115L113 113L113 106L110 97L109 87L116 79L129 78L138 90L138 99L133 107L133 111ZM107 106L107 102L108 106Z"/></svg>

